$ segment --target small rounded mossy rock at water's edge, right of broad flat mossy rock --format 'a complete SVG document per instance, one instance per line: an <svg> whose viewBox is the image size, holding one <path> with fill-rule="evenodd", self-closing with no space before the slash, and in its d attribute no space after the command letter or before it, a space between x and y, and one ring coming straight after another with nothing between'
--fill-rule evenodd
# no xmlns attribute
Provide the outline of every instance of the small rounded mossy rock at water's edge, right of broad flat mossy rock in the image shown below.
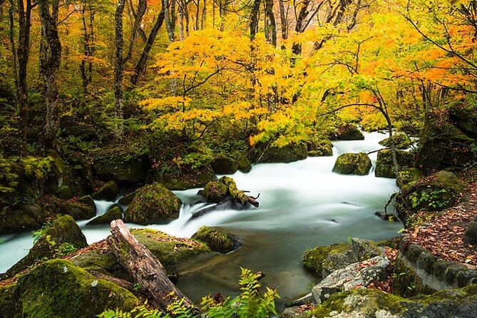
<svg viewBox="0 0 477 318"><path fill-rule="evenodd" d="M220 253L232 252L240 247L240 237L216 227L202 226L198 232L195 232L192 239L204 242L210 250Z"/></svg>

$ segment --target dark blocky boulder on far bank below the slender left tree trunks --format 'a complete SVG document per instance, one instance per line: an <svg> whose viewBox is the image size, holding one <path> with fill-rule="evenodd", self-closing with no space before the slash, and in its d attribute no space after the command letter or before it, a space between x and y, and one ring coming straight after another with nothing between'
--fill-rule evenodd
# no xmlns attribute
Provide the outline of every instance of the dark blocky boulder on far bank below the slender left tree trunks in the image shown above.
<svg viewBox="0 0 477 318"><path fill-rule="evenodd" d="M117 183L140 183L145 180L150 169L147 155L125 153L111 149L111 153L98 155L93 162L94 173L101 180L114 180Z"/></svg>

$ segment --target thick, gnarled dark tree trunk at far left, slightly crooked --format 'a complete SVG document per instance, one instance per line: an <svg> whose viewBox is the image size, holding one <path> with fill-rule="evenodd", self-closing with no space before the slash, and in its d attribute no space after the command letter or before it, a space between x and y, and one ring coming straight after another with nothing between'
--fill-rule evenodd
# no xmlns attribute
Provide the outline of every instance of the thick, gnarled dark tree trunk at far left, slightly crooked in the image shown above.
<svg viewBox="0 0 477 318"><path fill-rule="evenodd" d="M56 132L60 126L58 110L58 83L57 76L61 63L61 42L58 36L58 6L59 2L51 1L50 6L46 0L39 2L39 16L42 35L44 36L44 53L40 58L40 68L45 83L46 123L45 144L53 146Z"/></svg>

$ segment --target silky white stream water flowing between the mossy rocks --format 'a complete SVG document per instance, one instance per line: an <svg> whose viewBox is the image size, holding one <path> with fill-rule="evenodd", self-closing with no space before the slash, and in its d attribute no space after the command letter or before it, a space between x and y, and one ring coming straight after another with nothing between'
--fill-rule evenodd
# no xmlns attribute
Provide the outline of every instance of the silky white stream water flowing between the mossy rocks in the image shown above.
<svg viewBox="0 0 477 318"><path fill-rule="evenodd" d="M178 220L168 225L148 227L171 235L190 237L202 225L220 227L243 237L242 247L230 254L202 257L180 269L178 287L195 302L205 294L237 294L240 267L265 272L262 280L276 287L279 306L309 292L315 282L301 264L303 252L317 245L343 242L349 237L384 240L395 237L399 222L384 222L374 215L383 210L389 195L396 191L394 179L375 178L376 153L370 156L369 175L332 173L337 155L380 149L381 133L366 133L365 140L337 141L332 157L307 158L295 163L255 165L250 173L232 175L237 187L260 193L260 207L246 210L215 210L190 219L191 213L204 207L197 189L176 191L184 202ZM98 201L98 215L113 202ZM80 221L88 243L102 240L108 227L87 227ZM31 233L1 237L0 272L21 259L32 245Z"/></svg>

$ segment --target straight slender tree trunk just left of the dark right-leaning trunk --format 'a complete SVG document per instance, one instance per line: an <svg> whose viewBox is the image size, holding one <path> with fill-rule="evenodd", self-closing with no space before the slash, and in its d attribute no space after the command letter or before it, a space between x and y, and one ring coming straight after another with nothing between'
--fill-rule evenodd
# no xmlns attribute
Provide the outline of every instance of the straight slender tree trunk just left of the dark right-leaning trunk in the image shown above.
<svg viewBox="0 0 477 318"><path fill-rule="evenodd" d="M123 14L125 0L118 0L114 19L114 31L116 34L116 58L114 66L114 136L116 141L123 138L123 76L124 76L124 39L123 39Z"/></svg>

